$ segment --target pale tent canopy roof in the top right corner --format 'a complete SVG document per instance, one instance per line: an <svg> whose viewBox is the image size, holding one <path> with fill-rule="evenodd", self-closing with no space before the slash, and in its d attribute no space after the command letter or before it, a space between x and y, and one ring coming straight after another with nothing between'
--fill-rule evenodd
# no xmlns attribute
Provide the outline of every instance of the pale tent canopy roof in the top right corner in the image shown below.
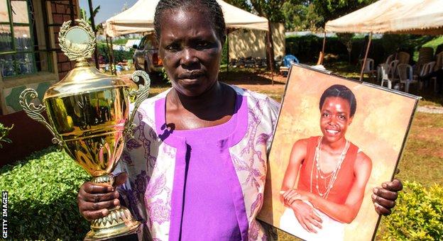
<svg viewBox="0 0 443 241"><path fill-rule="evenodd" d="M443 0L380 0L333 21L335 33L443 34Z"/></svg>

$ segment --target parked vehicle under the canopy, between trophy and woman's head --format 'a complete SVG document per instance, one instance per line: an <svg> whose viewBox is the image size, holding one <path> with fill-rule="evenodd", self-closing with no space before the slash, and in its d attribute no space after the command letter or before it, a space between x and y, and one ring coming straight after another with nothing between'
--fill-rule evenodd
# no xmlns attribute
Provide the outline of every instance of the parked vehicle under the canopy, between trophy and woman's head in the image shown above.
<svg viewBox="0 0 443 241"><path fill-rule="evenodd" d="M148 74L161 71L163 65L158 58L158 44L153 34L145 35L140 44L133 45L133 48L133 63L137 70L144 70Z"/></svg>

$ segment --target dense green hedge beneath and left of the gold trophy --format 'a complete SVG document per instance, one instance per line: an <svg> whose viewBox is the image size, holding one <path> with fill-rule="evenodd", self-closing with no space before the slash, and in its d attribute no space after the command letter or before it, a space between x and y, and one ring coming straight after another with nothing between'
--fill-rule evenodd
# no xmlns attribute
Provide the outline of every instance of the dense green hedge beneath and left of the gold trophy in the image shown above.
<svg viewBox="0 0 443 241"><path fill-rule="evenodd" d="M8 191L8 228L13 240L82 240L89 223L80 215L77 191L89 174L65 152L50 147L0 169Z"/></svg>

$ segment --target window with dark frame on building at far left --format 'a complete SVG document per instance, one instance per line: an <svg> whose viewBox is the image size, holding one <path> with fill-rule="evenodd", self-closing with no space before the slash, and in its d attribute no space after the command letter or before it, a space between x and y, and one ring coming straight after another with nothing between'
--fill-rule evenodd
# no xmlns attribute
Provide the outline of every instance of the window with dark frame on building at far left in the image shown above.
<svg viewBox="0 0 443 241"><path fill-rule="evenodd" d="M48 70L39 50L31 0L0 0L0 74L16 77Z"/></svg>

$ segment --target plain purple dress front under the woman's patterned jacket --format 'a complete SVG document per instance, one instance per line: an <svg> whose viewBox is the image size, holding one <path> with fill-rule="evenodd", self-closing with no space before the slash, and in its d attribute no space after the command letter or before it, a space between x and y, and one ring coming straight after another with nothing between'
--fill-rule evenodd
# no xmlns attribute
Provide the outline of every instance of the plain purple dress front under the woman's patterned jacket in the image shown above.
<svg viewBox="0 0 443 241"><path fill-rule="evenodd" d="M165 133L165 99L156 101L155 112L163 118L157 122L163 123L159 133ZM246 240L248 219L229 147L246 132L247 118L246 96L237 95L228 122L194 130L171 129L160 137L176 146L177 152L185 152L184 163L175 167L176 172L184 169L185 175L174 181L182 188L173 189L170 240ZM183 141L186 145L176 145Z"/></svg>

